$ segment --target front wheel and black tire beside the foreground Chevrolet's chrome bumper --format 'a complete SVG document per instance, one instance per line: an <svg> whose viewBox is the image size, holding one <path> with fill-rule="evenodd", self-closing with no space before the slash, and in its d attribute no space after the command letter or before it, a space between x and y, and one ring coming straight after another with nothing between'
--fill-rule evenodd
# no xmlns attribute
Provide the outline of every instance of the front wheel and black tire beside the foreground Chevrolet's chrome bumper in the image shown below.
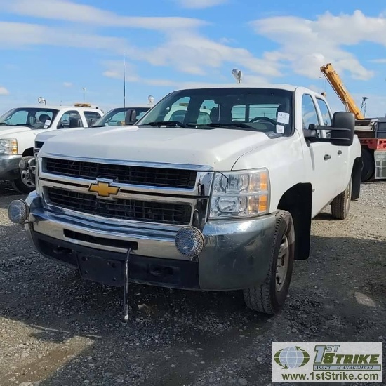
<svg viewBox="0 0 386 386"><path fill-rule="evenodd" d="M244 301L251 310L277 314L284 306L291 283L295 258L295 231L291 213L277 211L271 260L265 281L244 290Z"/></svg>

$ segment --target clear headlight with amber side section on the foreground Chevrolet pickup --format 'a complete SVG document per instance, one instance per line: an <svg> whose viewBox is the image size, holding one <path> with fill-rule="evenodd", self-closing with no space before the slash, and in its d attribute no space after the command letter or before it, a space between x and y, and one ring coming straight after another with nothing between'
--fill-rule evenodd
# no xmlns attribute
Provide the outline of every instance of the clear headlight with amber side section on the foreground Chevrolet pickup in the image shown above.
<svg viewBox="0 0 386 386"><path fill-rule="evenodd" d="M216 172L211 194L210 218L243 218L269 212L269 173Z"/></svg>

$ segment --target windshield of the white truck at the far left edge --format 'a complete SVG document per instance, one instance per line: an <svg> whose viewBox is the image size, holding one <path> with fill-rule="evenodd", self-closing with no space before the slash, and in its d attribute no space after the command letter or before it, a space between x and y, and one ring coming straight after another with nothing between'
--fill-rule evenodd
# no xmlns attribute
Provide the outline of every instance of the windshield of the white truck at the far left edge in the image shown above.
<svg viewBox="0 0 386 386"><path fill-rule="evenodd" d="M0 117L0 126L28 126L30 128L49 128L58 114L57 109L39 107L20 107L11 109Z"/></svg>

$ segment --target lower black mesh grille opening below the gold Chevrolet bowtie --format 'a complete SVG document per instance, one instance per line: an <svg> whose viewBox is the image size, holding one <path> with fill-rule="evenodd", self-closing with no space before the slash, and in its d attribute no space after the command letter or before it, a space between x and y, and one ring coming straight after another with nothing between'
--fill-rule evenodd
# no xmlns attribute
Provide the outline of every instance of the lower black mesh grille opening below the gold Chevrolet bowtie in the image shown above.
<svg viewBox="0 0 386 386"><path fill-rule="evenodd" d="M106 218L188 225L192 215L192 206L189 204L134 199L98 199L93 194L56 187L46 187L45 196L48 204Z"/></svg>

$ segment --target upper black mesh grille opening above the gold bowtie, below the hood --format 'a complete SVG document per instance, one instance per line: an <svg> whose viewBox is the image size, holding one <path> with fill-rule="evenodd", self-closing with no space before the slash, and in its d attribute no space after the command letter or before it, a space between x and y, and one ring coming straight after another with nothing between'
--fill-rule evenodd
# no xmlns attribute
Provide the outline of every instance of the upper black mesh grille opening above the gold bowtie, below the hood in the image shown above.
<svg viewBox="0 0 386 386"><path fill-rule="evenodd" d="M100 164L69 159L44 159L44 170L56 175L95 180L107 178L132 185L192 189L197 171L147 166Z"/></svg>

